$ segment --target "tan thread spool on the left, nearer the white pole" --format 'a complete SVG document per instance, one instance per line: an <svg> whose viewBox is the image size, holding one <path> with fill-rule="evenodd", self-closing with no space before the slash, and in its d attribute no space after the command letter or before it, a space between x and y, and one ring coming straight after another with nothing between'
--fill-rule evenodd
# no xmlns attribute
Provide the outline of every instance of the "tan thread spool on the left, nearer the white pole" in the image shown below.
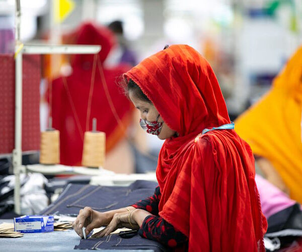
<svg viewBox="0 0 302 252"><path fill-rule="evenodd" d="M49 128L41 132L40 163L58 164L60 162L60 132L51 128L52 120L49 118Z"/></svg>

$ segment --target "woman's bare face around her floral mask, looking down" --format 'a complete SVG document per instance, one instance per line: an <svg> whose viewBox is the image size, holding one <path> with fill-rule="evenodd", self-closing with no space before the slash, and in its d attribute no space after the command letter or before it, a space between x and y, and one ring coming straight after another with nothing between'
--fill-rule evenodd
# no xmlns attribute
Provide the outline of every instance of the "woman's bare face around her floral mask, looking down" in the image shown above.
<svg viewBox="0 0 302 252"><path fill-rule="evenodd" d="M134 93L131 92L131 90L129 91L129 98L134 104L134 106L139 110L141 119L147 121L156 121L159 112L152 103L137 98ZM160 134L158 135L159 139L164 140L167 138L171 138L175 135L176 132L168 127L168 125L163 120L162 116L159 116L158 122L163 122L163 128Z"/></svg>

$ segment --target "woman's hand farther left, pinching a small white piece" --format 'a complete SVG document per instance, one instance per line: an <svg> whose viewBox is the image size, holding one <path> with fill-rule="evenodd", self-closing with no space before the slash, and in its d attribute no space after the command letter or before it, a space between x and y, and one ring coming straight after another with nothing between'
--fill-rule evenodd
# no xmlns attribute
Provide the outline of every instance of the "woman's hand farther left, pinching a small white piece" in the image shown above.
<svg viewBox="0 0 302 252"><path fill-rule="evenodd" d="M72 224L74 231L83 238L82 227L86 227L85 233L88 235L91 230L101 226L106 226L111 220L108 220L106 213L93 210L90 207L81 209L77 219Z"/></svg>

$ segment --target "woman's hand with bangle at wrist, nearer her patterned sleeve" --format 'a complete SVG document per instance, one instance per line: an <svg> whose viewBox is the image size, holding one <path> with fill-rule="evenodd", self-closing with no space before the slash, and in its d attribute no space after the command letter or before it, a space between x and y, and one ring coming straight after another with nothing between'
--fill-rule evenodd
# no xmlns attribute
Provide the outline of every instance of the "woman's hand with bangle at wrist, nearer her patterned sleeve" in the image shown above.
<svg viewBox="0 0 302 252"><path fill-rule="evenodd" d="M93 235L93 237L103 237L109 235L118 228L127 227L136 230L141 226L144 218L151 215L149 212L142 209L135 209L131 212L123 212L114 214L111 222L105 229ZM129 218L131 224L129 223Z"/></svg>

